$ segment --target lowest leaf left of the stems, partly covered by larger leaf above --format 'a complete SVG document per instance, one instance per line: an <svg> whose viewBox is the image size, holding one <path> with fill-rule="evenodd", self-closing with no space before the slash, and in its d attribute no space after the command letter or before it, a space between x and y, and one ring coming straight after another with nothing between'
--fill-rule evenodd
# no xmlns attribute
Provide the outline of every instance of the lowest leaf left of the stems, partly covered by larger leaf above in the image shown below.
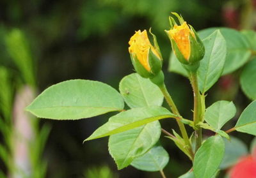
<svg viewBox="0 0 256 178"><path fill-rule="evenodd" d="M153 172L163 170L168 162L168 152L161 145L156 145L143 156L134 159L131 165L139 170Z"/></svg>

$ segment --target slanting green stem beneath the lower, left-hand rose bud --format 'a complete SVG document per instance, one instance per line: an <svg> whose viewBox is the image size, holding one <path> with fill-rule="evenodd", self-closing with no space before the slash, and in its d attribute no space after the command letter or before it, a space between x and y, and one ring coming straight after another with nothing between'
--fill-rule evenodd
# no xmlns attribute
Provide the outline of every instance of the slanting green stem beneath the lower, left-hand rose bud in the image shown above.
<svg viewBox="0 0 256 178"><path fill-rule="evenodd" d="M171 108L173 114L178 115L179 118L182 118L179 114L179 110L177 109L175 103L172 100L172 97L168 93L166 86L163 84L163 85L159 86L159 88L161 89L162 93L164 94L164 98L165 98L166 102L168 103L169 107ZM177 121L177 123L179 125L182 138L184 139L184 142L188 146L189 152L191 153L191 156L193 157L193 151L192 151L191 144L189 142L188 133L186 131L186 128L185 128L184 124L180 121L180 119L175 119L175 120Z"/></svg>

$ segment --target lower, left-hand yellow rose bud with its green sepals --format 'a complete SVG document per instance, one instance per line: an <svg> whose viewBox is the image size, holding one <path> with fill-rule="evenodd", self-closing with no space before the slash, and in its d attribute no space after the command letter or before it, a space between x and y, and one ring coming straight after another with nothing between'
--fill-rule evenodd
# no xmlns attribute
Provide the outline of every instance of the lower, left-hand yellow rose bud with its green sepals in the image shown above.
<svg viewBox="0 0 256 178"><path fill-rule="evenodd" d="M151 33L152 34L152 33ZM141 77L152 78L162 68L162 57L157 45L156 36L154 46L148 40L147 31L136 31L129 41L129 53L131 54L132 64Z"/></svg>

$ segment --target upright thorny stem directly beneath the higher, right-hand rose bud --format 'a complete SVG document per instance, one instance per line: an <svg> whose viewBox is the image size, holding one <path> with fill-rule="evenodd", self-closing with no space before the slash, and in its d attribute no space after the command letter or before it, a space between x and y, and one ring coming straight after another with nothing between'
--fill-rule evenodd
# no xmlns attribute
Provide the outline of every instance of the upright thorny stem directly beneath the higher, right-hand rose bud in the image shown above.
<svg viewBox="0 0 256 178"><path fill-rule="evenodd" d="M194 125L196 126L198 122L202 121L202 100L200 96L200 91L198 89L196 71L190 73L189 80L191 82L193 93L194 93L193 121L194 121ZM196 152L202 144L202 128L198 127L197 130L195 130L195 135L196 135L196 150L195 150Z"/></svg>

